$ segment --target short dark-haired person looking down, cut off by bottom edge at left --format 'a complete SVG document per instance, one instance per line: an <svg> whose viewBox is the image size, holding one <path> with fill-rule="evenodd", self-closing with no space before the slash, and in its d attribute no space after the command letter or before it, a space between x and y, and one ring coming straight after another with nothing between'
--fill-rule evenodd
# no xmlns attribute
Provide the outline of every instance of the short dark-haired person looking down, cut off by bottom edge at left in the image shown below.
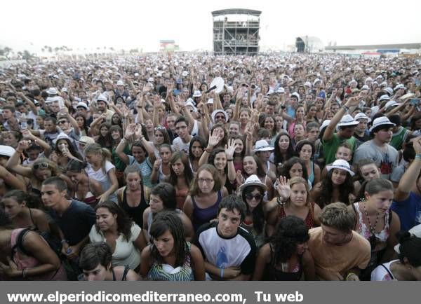
<svg viewBox="0 0 421 304"><path fill-rule="evenodd" d="M79 268L85 281L138 281L136 272L128 265L112 264L112 249L106 242L87 244L81 251ZM81 279L79 279L81 280Z"/></svg>

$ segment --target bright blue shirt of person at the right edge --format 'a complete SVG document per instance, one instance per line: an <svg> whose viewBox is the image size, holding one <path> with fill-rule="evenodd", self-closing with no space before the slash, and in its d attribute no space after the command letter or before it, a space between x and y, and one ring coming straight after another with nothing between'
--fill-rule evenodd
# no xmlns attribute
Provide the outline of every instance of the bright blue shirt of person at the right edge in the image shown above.
<svg viewBox="0 0 421 304"><path fill-rule="evenodd" d="M421 196L413 191L406 200L394 201L391 209L399 215L402 230L410 230L421 223Z"/></svg>

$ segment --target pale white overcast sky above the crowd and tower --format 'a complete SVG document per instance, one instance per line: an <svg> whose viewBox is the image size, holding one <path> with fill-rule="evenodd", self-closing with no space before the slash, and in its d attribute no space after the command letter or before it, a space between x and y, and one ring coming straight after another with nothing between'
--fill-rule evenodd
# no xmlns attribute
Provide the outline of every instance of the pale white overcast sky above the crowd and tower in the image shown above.
<svg viewBox="0 0 421 304"><path fill-rule="evenodd" d="M174 39L180 50L212 50L210 12L225 8L262 11L262 49L282 50L305 35L338 46L421 42L421 1L416 0L6 0L0 46L156 51L159 40Z"/></svg>

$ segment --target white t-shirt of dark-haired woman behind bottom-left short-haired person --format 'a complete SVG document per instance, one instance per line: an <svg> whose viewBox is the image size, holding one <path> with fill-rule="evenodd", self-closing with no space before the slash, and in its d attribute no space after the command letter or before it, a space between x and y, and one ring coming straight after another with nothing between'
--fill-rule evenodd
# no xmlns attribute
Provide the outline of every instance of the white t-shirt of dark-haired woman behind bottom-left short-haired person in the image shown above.
<svg viewBox="0 0 421 304"><path fill-rule="evenodd" d="M135 269L140 264L140 251L135 247L133 242L139 237L142 232L136 223L131 226L131 237L130 240L126 240L123 235L119 235L116 239L116 249L112 253L112 265L113 266L124 266L129 265L131 269ZM89 233L89 240L91 242L106 242L105 236L100 231L97 232L95 225L92 226L91 232Z"/></svg>

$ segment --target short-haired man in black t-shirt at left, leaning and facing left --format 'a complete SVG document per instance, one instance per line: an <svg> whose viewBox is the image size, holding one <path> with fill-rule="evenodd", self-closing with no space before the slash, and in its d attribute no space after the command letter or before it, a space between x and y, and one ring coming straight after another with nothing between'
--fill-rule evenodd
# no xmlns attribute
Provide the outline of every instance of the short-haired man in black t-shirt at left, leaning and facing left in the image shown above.
<svg viewBox="0 0 421 304"><path fill-rule="evenodd" d="M62 254L74 261L89 241L88 234L95 224L96 216L91 206L77 200L67 200L66 196L67 184L60 177L50 177L43 181L41 200L58 226L55 227L58 228L55 233L62 240Z"/></svg>

